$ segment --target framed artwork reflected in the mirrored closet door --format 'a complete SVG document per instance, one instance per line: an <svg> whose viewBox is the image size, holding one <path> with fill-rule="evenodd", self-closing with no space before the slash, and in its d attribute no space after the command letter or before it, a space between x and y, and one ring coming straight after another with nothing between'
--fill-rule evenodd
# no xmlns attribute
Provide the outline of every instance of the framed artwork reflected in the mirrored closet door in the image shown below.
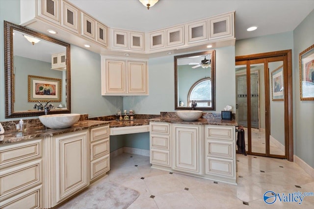
<svg viewBox="0 0 314 209"><path fill-rule="evenodd" d="M284 101L284 66L271 71L271 98L273 101Z"/></svg>

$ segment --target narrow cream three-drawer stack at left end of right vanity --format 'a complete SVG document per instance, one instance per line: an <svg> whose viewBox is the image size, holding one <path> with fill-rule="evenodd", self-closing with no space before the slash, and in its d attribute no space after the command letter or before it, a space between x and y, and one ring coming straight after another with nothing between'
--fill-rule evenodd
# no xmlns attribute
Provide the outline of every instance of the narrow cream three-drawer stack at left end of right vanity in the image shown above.
<svg viewBox="0 0 314 209"><path fill-rule="evenodd" d="M171 167L170 124L150 123L150 163Z"/></svg>

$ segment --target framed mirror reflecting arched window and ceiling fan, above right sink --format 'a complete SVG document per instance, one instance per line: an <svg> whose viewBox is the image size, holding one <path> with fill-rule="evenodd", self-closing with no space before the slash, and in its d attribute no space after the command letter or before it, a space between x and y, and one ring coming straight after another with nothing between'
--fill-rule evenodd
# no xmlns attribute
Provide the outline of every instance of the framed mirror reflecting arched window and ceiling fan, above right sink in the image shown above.
<svg viewBox="0 0 314 209"><path fill-rule="evenodd" d="M215 110L215 50L174 57L175 110Z"/></svg>

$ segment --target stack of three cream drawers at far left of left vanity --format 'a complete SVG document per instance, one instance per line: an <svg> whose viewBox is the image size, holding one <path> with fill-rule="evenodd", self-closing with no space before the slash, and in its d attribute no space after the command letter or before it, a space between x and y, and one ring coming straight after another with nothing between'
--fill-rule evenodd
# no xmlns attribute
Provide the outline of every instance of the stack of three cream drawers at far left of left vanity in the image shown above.
<svg viewBox="0 0 314 209"><path fill-rule="evenodd" d="M43 208L42 139L0 147L0 208Z"/></svg>

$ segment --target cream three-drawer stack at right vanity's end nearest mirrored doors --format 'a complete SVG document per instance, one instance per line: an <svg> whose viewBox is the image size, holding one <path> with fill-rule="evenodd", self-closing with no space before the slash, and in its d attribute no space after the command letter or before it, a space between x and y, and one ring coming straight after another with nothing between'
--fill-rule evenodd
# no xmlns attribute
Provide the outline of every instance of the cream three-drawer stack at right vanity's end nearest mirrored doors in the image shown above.
<svg viewBox="0 0 314 209"><path fill-rule="evenodd" d="M235 181L235 127L205 126L205 173Z"/></svg>

